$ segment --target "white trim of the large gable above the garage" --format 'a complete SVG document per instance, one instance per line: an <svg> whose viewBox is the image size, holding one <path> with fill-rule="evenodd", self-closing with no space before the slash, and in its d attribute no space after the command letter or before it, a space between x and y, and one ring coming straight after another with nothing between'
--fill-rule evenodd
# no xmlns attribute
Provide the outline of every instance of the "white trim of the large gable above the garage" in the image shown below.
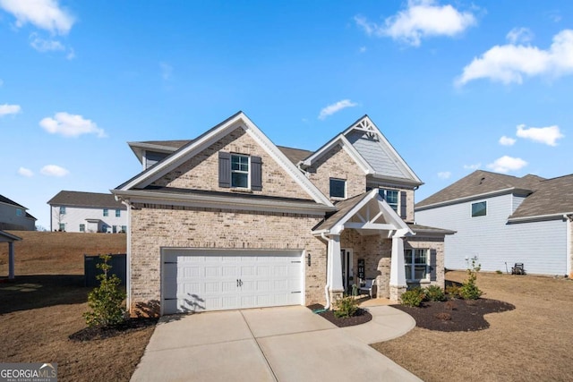
<svg viewBox="0 0 573 382"><path fill-rule="evenodd" d="M201 134L201 136L190 141L181 149L176 150L155 166L148 168L141 174L136 175L133 179L120 185L115 191L129 191L150 186L152 183L158 181L158 179L174 171L177 167L184 165L184 163L189 161L192 157L197 156L204 149L210 148L210 146L218 142L218 140L235 132L236 129L242 129L250 139L254 140L254 142L286 172L287 176L290 175L295 183L297 183L311 199L317 203L332 206L329 199L295 167L286 155L278 149L243 112L231 116L223 123L219 123L208 132Z"/></svg>

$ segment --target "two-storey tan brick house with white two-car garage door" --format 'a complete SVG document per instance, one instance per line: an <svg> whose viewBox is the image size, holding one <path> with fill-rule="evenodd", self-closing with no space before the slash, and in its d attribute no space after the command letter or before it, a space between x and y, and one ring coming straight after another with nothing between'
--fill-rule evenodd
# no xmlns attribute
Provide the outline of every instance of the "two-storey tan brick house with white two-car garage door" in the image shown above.
<svg viewBox="0 0 573 382"><path fill-rule="evenodd" d="M444 284L452 231L414 224L422 184L363 116L314 152L242 112L195 140L131 142L128 303L158 314L324 303L374 279L398 300Z"/></svg>

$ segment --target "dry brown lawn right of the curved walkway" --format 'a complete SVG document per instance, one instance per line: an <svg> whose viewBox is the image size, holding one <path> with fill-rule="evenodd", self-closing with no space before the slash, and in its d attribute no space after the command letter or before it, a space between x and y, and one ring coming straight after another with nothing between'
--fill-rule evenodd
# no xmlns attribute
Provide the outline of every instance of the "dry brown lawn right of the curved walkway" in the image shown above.
<svg viewBox="0 0 573 382"><path fill-rule="evenodd" d="M464 272L446 279L461 282ZM438 332L415 327L395 340L373 344L424 381L569 381L573 379L573 280L480 273L488 299L515 310L492 313L477 332Z"/></svg>

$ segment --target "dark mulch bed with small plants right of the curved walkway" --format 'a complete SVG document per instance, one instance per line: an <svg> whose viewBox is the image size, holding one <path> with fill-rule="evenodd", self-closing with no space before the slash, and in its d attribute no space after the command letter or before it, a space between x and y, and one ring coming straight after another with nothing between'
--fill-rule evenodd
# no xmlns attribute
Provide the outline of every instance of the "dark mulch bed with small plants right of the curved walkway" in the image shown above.
<svg viewBox="0 0 573 382"><path fill-rule="evenodd" d="M412 316L416 327L441 332L472 332L487 329L490 324L483 315L516 309L508 302L490 299L426 301L418 308L403 305L392 305L392 307Z"/></svg>

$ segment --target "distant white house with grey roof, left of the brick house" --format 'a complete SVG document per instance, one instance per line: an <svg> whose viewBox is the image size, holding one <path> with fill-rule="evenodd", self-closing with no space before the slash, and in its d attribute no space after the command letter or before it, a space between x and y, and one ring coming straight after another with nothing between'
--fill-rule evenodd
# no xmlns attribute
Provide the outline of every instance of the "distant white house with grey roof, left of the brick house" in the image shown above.
<svg viewBox="0 0 573 382"><path fill-rule="evenodd" d="M50 199L50 231L127 232L127 210L110 193L60 191Z"/></svg>

